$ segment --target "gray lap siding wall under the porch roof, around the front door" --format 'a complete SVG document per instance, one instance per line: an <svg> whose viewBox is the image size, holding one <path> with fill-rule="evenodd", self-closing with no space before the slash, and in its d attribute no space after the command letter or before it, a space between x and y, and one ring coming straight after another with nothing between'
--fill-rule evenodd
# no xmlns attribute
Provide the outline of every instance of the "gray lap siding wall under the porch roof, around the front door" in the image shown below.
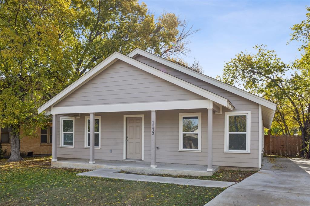
<svg viewBox="0 0 310 206"><path fill-rule="evenodd" d="M202 113L202 152L178 152L179 113ZM101 149L95 149L95 159L123 160L123 115L144 114L144 161L151 161L151 112L113 112L96 113L101 116ZM84 148L85 116L76 118L74 148L57 148L57 157L89 158L89 149ZM206 109L184 109L157 111L157 162L207 164L207 113ZM60 145L60 117L57 118L57 145ZM112 149L112 153L110 153Z"/></svg>

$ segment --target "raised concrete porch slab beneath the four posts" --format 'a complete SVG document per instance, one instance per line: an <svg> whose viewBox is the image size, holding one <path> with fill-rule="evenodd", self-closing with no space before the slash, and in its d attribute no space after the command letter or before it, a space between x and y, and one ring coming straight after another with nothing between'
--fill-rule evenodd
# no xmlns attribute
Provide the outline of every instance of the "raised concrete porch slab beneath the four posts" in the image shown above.
<svg viewBox="0 0 310 206"><path fill-rule="evenodd" d="M88 159L59 158L52 162L52 167L65 167L76 169L115 169L141 174L171 174L190 176L211 176L219 166L213 165L213 171L207 171L207 165L188 165L174 163L157 163L157 168L150 168L150 162L144 161L113 161L95 160L95 164L89 164Z"/></svg>

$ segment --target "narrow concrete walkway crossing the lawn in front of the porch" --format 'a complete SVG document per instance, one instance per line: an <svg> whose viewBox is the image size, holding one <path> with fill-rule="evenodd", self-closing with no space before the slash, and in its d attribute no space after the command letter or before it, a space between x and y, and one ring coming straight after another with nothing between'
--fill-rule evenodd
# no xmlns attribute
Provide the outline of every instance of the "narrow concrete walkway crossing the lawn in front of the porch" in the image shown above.
<svg viewBox="0 0 310 206"><path fill-rule="evenodd" d="M90 177L126 179L126 180L135 180L135 181L143 181L143 182L160 182L160 183L170 183L170 184L179 184L179 185L193 185L193 186L201 186L201 187L229 187L235 184L235 182L171 178L171 177L148 176L148 175L140 175L140 174L124 174L124 173L119 173L120 171L122 170L99 169L99 170L79 173L77 175L78 176L90 176Z"/></svg>

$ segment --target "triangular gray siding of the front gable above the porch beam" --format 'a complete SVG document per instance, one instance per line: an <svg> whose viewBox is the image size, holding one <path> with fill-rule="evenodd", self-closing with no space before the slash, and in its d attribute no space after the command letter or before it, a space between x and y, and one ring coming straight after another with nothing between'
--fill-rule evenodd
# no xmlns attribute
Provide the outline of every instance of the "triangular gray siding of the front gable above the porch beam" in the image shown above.
<svg viewBox="0 0 310 206"><path fill-rule="evenodd" d="M118 60L54 107L206 99Z"/></svg>

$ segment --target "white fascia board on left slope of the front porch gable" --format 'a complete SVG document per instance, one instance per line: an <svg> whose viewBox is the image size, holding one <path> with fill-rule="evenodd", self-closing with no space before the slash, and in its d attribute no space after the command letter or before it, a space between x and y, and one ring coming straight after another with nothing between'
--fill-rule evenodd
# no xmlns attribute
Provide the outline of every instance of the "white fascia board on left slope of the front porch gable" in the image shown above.
<svg viewBox="0 0 310 206"><path fill-rule="evenodd" d="M51 98L49 101L47 101L45 104L40 106L38 108L38 113L45 111L50 106L55 105L57 102L59 102L64 97L68 96L72 91L78 89L83 84L86 83L87 79L90 79L91 77L97 75L98 72L104 67L108 67L111 64L113 64L115 61L117 61L116 56L119 54L118 52L114 52L107 58L105 58L102 62L97 64L94 68L92 68L90 71L88 71L85 75L82 75L79 79L74 81L72 84L70 84L68 87L64 88L61 92L59 92L57 95L55 95L53 98Z"/></svg>

